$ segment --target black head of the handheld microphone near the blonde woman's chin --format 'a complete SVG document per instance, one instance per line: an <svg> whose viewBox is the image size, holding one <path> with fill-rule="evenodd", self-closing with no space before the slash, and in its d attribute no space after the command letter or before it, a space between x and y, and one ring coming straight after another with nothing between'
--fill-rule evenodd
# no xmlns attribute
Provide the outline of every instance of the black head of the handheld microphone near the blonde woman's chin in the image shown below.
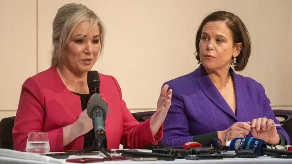
<svg viewBox="0 0 292 164"><path fill-rule="evenodd" d="M89 88L89 94L99 93L99 76L98 71L87 72L87 85Z"/></svg>

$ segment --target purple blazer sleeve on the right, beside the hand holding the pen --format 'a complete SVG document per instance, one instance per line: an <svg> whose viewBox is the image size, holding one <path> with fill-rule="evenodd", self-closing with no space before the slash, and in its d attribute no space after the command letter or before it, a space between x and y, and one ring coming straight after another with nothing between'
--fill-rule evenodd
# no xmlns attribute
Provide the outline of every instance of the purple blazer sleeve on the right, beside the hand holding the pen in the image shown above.
<svg viewBox="0 0 292 164"><path fill-rule="evenodd" d="M264 115L269 118L269 119L272 119L274 120L274 122L277 124L277 123L280 123L280 121L276 118L273 110L272 110L272 107L270 106L270 100L269 98L267 97L267 95L265 94L265 89L262 85L260 85L262 90L263 90L263 95L262 95L262 100L263 100L263 106L264 106ZM288 133L286 132L286 130L284 130L281 126L277 126L277 132L278 133L281 133L284 138L286 139L286 145L289 145L290 144L290 139L289 139L289 135ZM283 144L283 143L281 143Z"/></svg>

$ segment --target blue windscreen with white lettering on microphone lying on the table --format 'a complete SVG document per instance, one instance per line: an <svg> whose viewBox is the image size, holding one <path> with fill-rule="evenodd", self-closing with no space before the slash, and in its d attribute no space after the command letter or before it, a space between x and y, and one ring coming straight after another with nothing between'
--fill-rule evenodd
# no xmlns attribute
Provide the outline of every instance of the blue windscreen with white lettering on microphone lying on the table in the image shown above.
<svg viewBox="0 0 292 164"><path fill-rule="evenodd" d="M234 138L230 142L229 150L254 149L255 152L260 155L262 147L267 147L267 144L262 139L257 139L254 137Z"/></svg>

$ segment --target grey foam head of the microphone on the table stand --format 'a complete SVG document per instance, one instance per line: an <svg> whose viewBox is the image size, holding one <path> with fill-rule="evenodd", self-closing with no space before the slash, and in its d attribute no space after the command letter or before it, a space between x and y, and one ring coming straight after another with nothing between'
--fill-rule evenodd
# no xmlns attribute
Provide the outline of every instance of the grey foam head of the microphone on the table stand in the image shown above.
<svg viewBox="0 0 292 164"><path fill-rule="evenodd" d="M92 119L92 111L94 109L102 110L102 113L104 114L104 120L105 120L105 116L107 115L109 109L108 109L108 106L105 103L105 101L102 100L102 98L100 97L100 95L98 93L94 93L90 97L90 100L87 104L87 115L91 119Z"/></svg>

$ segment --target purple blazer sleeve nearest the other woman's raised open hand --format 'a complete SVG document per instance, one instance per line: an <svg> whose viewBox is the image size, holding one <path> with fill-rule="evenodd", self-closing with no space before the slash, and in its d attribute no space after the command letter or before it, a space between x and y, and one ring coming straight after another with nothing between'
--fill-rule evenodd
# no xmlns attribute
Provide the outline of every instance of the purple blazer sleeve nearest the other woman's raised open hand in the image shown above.
<svg viewBox="0 0 292 164"><path fill-rule="evenodd" d="M185 112L183 99L175 88L169 84L172 91L171 107L164 121L162 142L167 146L182 146L193 141L189 132L189 121Z"/></svg>

